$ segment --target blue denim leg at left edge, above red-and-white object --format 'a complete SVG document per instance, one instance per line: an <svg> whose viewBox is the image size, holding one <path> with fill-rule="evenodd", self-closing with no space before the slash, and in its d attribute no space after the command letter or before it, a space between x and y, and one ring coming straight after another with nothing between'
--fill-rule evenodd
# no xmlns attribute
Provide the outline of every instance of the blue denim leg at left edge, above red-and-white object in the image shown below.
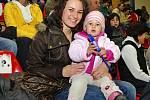
<svg viewBox="0 0 150 100"><path fill-rule="evenodd" d="M0 50L12 51L17 54L17 44L15 41L0 37Z"/></svg>

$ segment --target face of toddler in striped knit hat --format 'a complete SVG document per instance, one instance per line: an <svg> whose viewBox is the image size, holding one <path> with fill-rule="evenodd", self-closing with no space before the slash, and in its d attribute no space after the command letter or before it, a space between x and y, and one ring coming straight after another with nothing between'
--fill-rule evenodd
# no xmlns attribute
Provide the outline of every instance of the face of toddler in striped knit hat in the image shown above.
<svg viewBox="0 0 150 100"><path fill-rule="evenodd" d="M100 32L102 31L101 23L97 20L89 21L86 24L85 28L86 28L86 32L88 34L91 34L94 37L98 36L100 34Z"/></svg>

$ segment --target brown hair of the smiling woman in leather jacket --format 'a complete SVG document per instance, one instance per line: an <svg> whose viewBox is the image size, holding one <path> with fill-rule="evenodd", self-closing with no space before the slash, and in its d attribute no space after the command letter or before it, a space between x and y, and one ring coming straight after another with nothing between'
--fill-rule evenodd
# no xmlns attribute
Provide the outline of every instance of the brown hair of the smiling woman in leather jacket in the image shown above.
<svg viewBox="0 0 150 100"><path fill-rule="evenodd" d="M63 10L66 6L68 0L58 0L57 5L54 7L54 12L50 15L53 17L53 19L55 21L57 21L57 24L62 28L62 14L63 14ZM83 20L85 18L85 15L87 14L87 2L85 0L80 0L83 4L83 15L82 15L82 19L80 21L80 23L78 25L80 25L81 23L83 23ZM49 21L49 20L48 20ZM78 25L76 27L78 27ZM78 27L79 28L79 27ZM82 26L80 27L82 28Z"/></svg>

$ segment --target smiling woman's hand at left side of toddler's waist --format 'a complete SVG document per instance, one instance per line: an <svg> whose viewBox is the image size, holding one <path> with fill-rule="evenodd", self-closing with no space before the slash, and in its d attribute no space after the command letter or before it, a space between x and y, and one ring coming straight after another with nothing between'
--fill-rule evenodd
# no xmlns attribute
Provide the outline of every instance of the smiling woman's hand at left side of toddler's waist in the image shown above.
<svg viewBox="0 0 150 100"><path fill-rule="evenodd" d="M84 63L71 64L63 68L62 74L64 77L71 77L75 74L80 74L82 71L84 71L84 69L85 69Z"/></svg>

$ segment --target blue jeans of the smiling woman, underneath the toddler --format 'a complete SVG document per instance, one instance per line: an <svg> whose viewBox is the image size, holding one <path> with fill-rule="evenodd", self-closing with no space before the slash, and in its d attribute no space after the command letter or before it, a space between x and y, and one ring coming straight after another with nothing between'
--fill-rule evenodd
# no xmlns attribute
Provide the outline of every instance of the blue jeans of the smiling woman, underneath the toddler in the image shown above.
<svg viewBox="0 0 150 100"><path fill-rule="evenodd" d="M114 80L116 85L124 93L128 100L136 100L136 89L128 82ZM56 100L67 100L69 88L64 89L61 93L55 96ZM106 100L100 88L88 85L84 100Z"/></svg>

